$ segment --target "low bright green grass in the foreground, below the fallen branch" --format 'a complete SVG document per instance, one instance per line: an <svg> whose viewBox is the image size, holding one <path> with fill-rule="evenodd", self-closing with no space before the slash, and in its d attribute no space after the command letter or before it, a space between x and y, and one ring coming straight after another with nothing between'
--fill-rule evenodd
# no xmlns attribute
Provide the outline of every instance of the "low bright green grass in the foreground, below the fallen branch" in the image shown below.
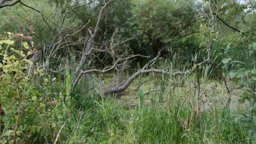
<svg viewBox="0 0 256 144"><path fill-rule="evenodd" d="M77 95L78 96L78 95ZM189 105L161 105L125 109L114 99L74 100L66 116L68 139L84 143L245 143L246 131L232 119L227 109L212 109L200 114ZM95 95L94 95L95 96ZM97 95L98 96L98 95ZM83 100L82 100L83 99ZM175 98L173 98L175 99ZM65 131L64 131L65 132ZM63 141L67 141L64 137Z"/></svg>

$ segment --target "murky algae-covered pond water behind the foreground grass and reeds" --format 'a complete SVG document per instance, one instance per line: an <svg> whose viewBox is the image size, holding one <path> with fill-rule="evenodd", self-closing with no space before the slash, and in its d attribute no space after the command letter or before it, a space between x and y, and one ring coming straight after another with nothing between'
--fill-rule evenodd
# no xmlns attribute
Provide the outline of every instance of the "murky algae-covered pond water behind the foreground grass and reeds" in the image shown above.
<svg viewBox="0 0 256 144"><path fill-rule="evenodd" d="M104 78L103 81L104 81L105 87L111 87L113 84L115 84L113 77ZM144 92L159 89L159 85L160 85L159 78L150 78L146 76L138 77L131 83L131 85L125 91L119 93L118 100L124 101L127 106L139 103L139 99L138 99L139 91L135 91L135 89L137 89L138 85L141 84L142 82L145 82L145 83L143 83L139 88L143 89ZM185 98L185 100L186 100L186 97L189 97L188 96L189 89L191 89L191 87L194 86L194 85L190 86L189 83L190 82L187 81L184 87L182 87L182 89L180 89L179 91L179 95ZM217 86L214 86L214 89L212 89L211 86L215 85L215 83L217 84ZM165 89L164 95L167 98L170 97L170 93L167 94L167 92L169 91L168 89L170 87L168 86L168 84L169 82L166 81L167 88ZM237 110L237 109L246 109L246 106L248 106L248 104L238 105L238 102L237 102L241 97L242 93L244 92L243 90L234 89L230 93L227 93L226 86L223 85L223 82L221 81L212 79L207 83L201 83L200 87L201 87L200 89L201 92L199 94L199 101L202 102L202 108L210 109L211 107L217 106L218 108L229 107L231 110ZM231 88L233 87L233 85L229 84L228 87ZM194 92L195 88L191 89L190 91ZM158 94L159 92L157 91L153 92L153 95L155 95L156 99ZM196 101L198 101L197 95L198 94L196 94L196 97L195 97ZM150 95L146 94L144 98L145 98L144 102L150 105L151 104Z"/></svg>

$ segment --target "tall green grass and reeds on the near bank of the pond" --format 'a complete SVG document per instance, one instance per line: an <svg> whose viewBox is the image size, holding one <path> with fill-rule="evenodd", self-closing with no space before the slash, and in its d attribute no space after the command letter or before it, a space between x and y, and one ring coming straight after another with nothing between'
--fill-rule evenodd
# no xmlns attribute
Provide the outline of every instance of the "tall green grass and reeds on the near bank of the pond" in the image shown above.
<svg viewBox="0 0 256 144"><path fill-rule="evenodd" d="M41 92L43 97L48 96L50 101L57 101L58 105L45 105L42 115L47 117L42 118L43 121L37 125L40 132L30 134L23 131L19 138L25 143L54 143L56 139L57 143L246 142L247 131L233 121L235 111L219 109L218 105L198 111L196 89L183 97L181 85L173 86L182 77L161 77L162 86L166 85L166 81L169 82L167 90L159 86L161 91L146 96L141 86L138 92L139 105L128 109L124 101L102 95L101 89L68 96L66 83L51 82L45 85L51 89L41 87ZM169 93L165 97L167 91ZM146 99L150 99L150 105L144 105ZM41 134L42 131L44 133ZM60 136L57 137L59 131ZM28 138L34 135L41 139Z"/></svg>

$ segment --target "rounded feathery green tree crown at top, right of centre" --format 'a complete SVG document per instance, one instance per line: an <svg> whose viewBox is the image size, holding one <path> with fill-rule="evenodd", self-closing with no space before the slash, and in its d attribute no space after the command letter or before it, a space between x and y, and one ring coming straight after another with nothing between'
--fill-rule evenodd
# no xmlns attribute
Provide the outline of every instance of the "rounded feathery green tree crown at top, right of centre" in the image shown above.
<svg viewBox="0 0 256 144"><path fill-rule="evenodd" d="M169 43L188 34L193 27L194 1L132 1L133 25L143 31L145 41ZM189 13L189 14L188 14Z"/></svg>

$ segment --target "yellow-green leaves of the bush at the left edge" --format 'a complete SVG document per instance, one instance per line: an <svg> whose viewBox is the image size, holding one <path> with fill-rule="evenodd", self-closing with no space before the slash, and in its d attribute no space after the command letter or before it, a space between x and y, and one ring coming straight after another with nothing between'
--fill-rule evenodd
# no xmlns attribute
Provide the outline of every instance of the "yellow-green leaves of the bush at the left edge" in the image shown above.
<svg viewBox="0 0 256 144"><path fill-rule="evenodd" d="M36 125L42 120L39 114L45 108L45 100L42 100L42 93L34 84L33 77L37 75L33 74L32 70L31 73L27 70L28 65L33 65L33 62L27 58L29 54L33 54L33 51L29 50L27 42L22 42L25 40L22 38L26 37L15 35L21 42L16 43L17 37L12 37L13 35L9 32L6 33L12 39L1 37L0 41L0 103L4 111L0 117L6 129L2 136L8 140L9 137L13 137L13 126L19 116L19 128L16 132L18 137L40 131L41 127ZM37 74L42 74L42 71L38 71Z"/></svg>

